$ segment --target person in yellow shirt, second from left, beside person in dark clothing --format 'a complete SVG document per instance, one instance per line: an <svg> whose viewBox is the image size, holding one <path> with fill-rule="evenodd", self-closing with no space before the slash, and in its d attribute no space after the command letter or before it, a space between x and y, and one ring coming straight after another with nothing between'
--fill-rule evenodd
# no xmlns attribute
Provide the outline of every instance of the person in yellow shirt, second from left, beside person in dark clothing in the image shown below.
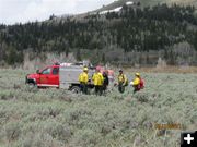
<svg viewBox="0 0 197 147"><path fill-rule="evenodd" d="M102 95L103 94L103 75L100 72L100 69L96 69L95 73L93 74L92 81L94 83L95 88L95 95Z"/></svg>

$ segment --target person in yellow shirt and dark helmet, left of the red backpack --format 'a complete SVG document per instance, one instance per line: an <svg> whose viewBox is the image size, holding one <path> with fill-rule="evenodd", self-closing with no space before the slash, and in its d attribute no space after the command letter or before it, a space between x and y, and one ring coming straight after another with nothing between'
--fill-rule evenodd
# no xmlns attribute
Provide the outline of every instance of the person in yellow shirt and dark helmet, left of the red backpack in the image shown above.
<svg viewBox="0 0 197 147"><path fill-rule="evenodd" d="M119 93L124 93L126 86L128 86L128 78L123 73L123 70L119 70L119 75L118 75L118 90L119 90Z"/></svg>

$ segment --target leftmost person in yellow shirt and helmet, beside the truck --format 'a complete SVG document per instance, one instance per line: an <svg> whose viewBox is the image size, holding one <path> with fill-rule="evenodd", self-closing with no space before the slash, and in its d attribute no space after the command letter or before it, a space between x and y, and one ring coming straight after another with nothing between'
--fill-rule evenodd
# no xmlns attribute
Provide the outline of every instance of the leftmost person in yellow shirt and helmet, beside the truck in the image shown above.
<svg viewBox="0 0 197 147"><path fill-rule="evenodd" d="M83 94L88 94L89 69L84 68L83 72L79 75L80 88Z"/></svg>

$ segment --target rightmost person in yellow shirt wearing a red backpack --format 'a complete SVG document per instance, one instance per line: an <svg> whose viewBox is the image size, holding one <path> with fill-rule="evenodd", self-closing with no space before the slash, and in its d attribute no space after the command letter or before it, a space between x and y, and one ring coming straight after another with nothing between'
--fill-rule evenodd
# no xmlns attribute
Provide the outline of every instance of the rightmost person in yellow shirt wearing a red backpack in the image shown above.
<svg viewBox="0 0 197 147"><path fill-rule="evenodd" d="M135 76L135 79L130 83L130 85L134 87L134 94L144 87L140 73L136 73Z"/></svg>

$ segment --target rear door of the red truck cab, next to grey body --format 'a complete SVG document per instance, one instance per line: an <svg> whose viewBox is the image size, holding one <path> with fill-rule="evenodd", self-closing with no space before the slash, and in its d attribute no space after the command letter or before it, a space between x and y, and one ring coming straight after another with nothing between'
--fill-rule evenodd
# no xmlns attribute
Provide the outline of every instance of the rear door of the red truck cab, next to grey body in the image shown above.
<svg viewBox="0 0 197 147"><path fill-rule="evenodd" d="M48 83L53 87L59 87L59 66L51 69L51 74L48 78Z"/></svg>

